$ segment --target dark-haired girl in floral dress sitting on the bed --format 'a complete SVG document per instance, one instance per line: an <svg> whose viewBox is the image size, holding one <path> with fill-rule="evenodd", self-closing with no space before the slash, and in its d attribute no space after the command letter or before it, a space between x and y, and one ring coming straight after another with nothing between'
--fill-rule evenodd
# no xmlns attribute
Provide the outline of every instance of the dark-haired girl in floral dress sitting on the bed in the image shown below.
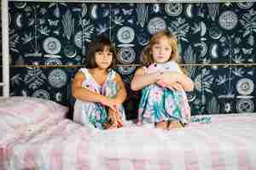
<svg viewBox="0 0 256 170"><path fill-rule="evenodd" d="M122 127L126 91L121 77L113 71L116 54L108 37L90 42L86 57L87 68L76 73L72 85L74 122L99 129Z"/></svg>

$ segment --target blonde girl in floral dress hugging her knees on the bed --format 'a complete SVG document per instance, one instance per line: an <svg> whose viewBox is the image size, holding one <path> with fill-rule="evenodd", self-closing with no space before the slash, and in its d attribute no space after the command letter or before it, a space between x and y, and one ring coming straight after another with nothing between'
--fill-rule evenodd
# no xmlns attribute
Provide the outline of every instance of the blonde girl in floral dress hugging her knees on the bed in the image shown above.
<svg viewBox="0 0 256 170"><path fill-rule="evenodd" d="M190 118L185 91L194 83L179 65L177 38L170 31L157 32L143 52L143 67L137 69L132 90L141 90L137 123L154 123L155 127L183 127Z"/></svg>

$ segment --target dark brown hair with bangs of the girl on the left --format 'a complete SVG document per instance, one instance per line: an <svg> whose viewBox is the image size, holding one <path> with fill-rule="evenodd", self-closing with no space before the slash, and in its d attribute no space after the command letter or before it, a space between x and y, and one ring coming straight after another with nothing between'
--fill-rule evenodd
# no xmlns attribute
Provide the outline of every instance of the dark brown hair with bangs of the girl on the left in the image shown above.
<svg viewBox="0 0 256 170"><path fill-rule="evenodd" d="M116 66L116 52L115 48L112 45L112 42L109 40L108 37L100 35L89 44L88 51L86 54L87 68L93 69L98 67L95 58L96 52L103 51L106 47L109 47L109 51L113 53L112 62L108 66L108 68L114 68Z"/></svg>

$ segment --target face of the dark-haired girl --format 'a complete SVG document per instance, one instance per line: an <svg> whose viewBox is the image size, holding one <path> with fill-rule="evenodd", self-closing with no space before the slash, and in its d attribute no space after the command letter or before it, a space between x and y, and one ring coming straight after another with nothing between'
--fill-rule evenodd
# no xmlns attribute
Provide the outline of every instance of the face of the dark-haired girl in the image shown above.
<svg viewBox="0 0 256 170"><path fill-rule="evenodd" d="M100 69L108 69L113 60L113 53L109 51L109 47L104 47L103 51L98 51L95 54L96 65Z"/></svg>

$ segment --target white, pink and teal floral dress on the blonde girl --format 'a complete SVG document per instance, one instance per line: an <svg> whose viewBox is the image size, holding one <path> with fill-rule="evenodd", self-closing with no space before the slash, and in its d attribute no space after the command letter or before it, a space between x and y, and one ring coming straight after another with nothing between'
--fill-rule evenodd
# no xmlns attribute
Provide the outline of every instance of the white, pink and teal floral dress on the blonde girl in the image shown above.
<svg viewBox="0 0 256 170"><path fill-rule="evenodd" d="M156 71L182 72L174 61L149 65L144 69L148 74ZM184 91L163 88L156 83L143 88L138 110L138 125L174 120L185 124L189 118L190 107Z"/></svg>

